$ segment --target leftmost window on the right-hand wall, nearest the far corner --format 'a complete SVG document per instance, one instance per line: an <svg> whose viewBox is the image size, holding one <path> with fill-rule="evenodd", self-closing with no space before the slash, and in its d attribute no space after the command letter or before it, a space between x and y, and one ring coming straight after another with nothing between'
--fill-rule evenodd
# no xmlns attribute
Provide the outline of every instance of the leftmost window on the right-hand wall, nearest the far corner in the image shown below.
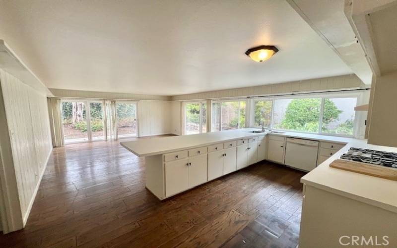
<svg viewBox="0 0 397 248"><path fill-rule="evenodd" d="M186 134L203 133L207 130L207 105L205 102L186 103Z"/></svg>

